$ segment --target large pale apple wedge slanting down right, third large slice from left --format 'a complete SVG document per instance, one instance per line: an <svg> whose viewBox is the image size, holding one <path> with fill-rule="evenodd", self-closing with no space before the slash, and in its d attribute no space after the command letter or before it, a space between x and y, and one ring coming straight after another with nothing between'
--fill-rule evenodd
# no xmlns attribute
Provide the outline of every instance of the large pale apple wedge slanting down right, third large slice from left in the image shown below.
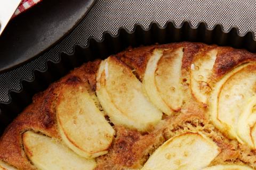
<svg viewBox="0 0 256 170"><path fill-rule="evenodd" d="M162 112L150 103L132 70L114 56L101 62L96 92L116 125L147 131L162 118Z"/></svg>

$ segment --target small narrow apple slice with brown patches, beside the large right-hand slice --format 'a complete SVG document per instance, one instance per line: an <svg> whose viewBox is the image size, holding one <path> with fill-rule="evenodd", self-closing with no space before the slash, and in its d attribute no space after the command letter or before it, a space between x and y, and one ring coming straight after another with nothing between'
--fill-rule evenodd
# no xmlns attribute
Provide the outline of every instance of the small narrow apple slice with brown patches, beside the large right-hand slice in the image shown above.
<svg viewBox="0 0 256 170"><path fill-rule="evenodd" d="M191 65L190 70L190 88L191 94L202 103L207 103L207 98L212 91L210 77L212 75L213 65L217 57L217 49L197 55Z"/></svg>

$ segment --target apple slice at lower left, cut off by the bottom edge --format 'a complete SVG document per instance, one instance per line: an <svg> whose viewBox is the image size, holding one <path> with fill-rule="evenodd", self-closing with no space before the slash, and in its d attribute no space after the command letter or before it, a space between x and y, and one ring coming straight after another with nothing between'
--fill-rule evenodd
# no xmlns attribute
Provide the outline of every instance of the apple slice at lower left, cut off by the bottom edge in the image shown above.
<svg viewBox="0 0 256 170"><path fill-rule="evenodd" d="M75 154L58 141L42 134L27 131L23 133L23 146L28 158L42 170L94 169L94 159L86 159Z"/></svg>

